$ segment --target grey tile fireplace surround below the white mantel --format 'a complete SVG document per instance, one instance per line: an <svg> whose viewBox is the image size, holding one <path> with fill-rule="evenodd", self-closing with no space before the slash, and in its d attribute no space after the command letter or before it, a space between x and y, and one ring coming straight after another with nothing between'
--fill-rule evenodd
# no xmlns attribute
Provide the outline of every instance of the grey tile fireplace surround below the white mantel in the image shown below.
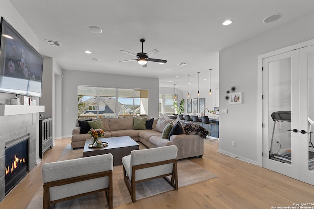
<svg viewBox="0 0 314 209"><path fill-rule="evenodd" d="M31 170L36 165L36 129L39 123L39 113L0 116L0 202L5 197L5 146L10 141L29 135L28 140L28 168Z"/></svg>

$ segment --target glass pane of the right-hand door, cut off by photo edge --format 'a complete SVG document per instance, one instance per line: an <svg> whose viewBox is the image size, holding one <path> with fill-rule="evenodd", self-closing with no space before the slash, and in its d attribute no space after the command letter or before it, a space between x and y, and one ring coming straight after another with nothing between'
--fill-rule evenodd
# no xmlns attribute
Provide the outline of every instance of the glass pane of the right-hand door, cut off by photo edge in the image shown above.
<svg viewBox="0 0 314 209"><path fill-rule="evenodd" d="M308 53L308 121L309 132L314 131L314 52ZM309 170L314 172L314 134L308 135Z"/></svg>

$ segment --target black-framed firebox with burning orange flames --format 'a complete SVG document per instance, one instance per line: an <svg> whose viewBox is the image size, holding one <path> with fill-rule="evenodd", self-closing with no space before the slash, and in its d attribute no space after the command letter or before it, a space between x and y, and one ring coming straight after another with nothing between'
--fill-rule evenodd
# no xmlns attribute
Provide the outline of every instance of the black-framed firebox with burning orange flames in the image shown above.
<svg viewBox="0 0 314 209"><path fill-rule="evenodd" d="M5 144L5 195L28 173L29 135Z"/></svg>

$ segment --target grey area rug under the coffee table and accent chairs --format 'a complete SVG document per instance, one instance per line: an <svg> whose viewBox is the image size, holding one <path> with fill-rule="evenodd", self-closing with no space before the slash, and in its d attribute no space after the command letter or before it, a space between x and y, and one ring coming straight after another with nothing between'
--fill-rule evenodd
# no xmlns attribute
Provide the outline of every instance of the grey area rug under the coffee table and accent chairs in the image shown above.
<svg viewBox="0 0 314 209"><path fill-rule="evenodd" d="M58 161L83 157L83 150L72 150L68 144ZM178 160L178 186L188 186L198 182L216 178L217 176L189 160ZM154 179L136 184L136 200L160 194L174 188L164 178ZM123 180L123 166L113 167L113 206L132 202L130 193ZM35 193L27 209L42 209L43 187ZM57 203L55 209L99 209L109 208L104 192L87 195L73 200Z"/></svg>

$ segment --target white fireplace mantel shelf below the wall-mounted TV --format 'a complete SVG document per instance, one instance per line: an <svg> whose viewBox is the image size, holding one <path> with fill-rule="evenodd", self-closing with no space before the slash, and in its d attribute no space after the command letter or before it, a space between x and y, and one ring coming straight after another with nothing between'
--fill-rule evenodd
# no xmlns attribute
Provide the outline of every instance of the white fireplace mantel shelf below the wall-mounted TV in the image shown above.
<svg viewBox="0 0 314 209"><path fill-rule="evenodd" d="M40 113L45 112L43 105L0 105L0 116L20 115L27 113Z"/></svg>

